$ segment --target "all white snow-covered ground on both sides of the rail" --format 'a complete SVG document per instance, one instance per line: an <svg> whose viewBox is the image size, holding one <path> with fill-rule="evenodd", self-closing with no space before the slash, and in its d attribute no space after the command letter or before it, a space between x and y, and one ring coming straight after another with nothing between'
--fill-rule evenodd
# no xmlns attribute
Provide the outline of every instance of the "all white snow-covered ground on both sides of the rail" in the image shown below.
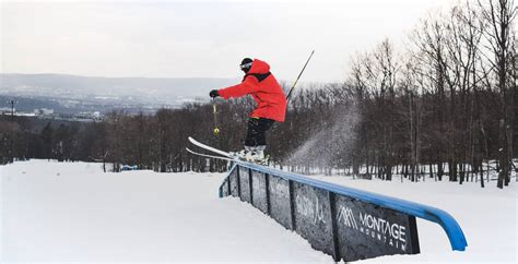
<svg viewBox="0 0 518 264"><path fill-rule="evenodd" d="M237 199L217 197L224 173L104 173L101 165L31 160L0 166L0 262L320 262L298 235ZM316 177L436 206L468 239L452 252L443 229L417 219L419 255L365 262L516 263L517 182L380 182Z"/></svg>

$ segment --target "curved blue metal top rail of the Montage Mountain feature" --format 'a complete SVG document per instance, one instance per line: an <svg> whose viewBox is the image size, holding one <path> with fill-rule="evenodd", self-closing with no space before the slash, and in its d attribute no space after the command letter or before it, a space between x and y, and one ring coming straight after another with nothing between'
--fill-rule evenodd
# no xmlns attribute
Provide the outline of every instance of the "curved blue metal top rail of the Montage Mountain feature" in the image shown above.
<svg viewBox="0 0 518 264"><path fill-rule="evenodd" d="M377 194L373 192L362 191L354 188L319 181L319 180L315 180L302 175L282 171L279 169L273 169L273 168L259 166L259 165L255 165L250 163L236 161L234 167L237 165L249 168L249 169L258 170L263 173L274 175L285 180L292 180L292 181L296 181L303 184L308 184L315 188L327 190L329 192L357 199L370 204L379 205L386 208L404 213L407 215L412 215L422 219L436 223L443 227L446 235L448 236L451 250L464 251L466 247L468 247L468 242L466 240L464 233L462 232L462 229L460 228L457 220L451 215L449 215L448 213L439 208L435 208L428 205L423 205L423 204L419 204L419 203L414 203L414 202L410 202L410 201L405 201L401 199L396 199L396 197L391 197L387 195L381 195L381 194ZM233 169L231 169L231 171ZM220 197L222 197L222 193L220 193Z"/></svg>

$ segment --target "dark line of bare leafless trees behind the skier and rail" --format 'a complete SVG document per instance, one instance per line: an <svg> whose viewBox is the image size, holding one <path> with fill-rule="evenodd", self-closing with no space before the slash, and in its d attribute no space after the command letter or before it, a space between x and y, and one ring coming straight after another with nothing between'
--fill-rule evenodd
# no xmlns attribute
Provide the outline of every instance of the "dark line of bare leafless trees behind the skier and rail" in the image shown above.
<svg viewBox="0 0 518 264"><path fill-rule="evenodd" d="M479 179L482 187L484 173L497 171L497 185L507 185L518 153L516 13L513 0L466 1L423 19L404 48L385 39L353 56L343 83L297 87L286 121L268 135L271 165L386 180L395 173L413 181ZM212 104L220 134L212 133ZM10 155L103 161L116 171L125 164L161 172L224 171L226 161L187 153L187 137L240 149L254 103L212 104L152 116L113 111L81 124L38 127L2 116L0 154L4 161Z"/></svg>

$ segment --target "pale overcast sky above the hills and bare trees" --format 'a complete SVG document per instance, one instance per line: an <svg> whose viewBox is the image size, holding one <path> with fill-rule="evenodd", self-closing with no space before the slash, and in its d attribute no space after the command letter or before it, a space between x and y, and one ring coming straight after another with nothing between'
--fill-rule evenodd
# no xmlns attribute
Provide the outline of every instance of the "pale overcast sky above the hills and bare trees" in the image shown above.
<svg viewBox="0 0 518 264"><path fill-rule="evenodd" d="M284 2L3 1L1 71L93 76L237 77L244 57L281 80L341 82L351 56L454 0Z"/></svg>

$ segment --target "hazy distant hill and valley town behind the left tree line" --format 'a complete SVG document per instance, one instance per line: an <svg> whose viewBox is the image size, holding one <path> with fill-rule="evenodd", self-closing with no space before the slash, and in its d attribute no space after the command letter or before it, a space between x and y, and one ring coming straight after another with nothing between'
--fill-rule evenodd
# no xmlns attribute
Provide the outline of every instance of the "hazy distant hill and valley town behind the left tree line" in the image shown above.
<svg viewBox="0 0 518 264"><path fill-rule="evenodd" d="M209 101L209 92L238 80L187 77L92 77L66 74L0 74L0 107L15 99L16 109L55 109L60 113L81 111L153 112L190 101Z"/></svg>

